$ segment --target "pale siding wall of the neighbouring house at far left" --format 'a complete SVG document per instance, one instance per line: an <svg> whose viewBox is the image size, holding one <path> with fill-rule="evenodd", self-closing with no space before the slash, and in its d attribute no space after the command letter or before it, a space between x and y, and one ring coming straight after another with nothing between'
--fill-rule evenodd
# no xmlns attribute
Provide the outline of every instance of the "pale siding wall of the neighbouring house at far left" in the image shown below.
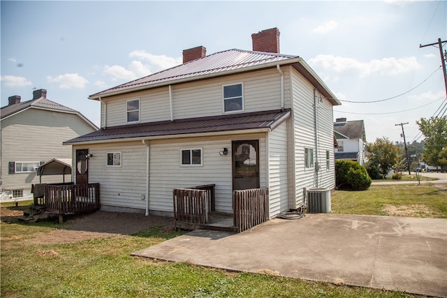
<svg viewBox="0 0 447 298"><path fill-rule="evenodd" d="M8 174L14 161L49 161L52 158L71 158L71 146L62 142L94 131L76 114L31 108L1 120L1 188L31 191L39 183L36 172ZM61 175L43 176L42 183L59 183ZM65 181L71 181L65 175Z"/></svg>

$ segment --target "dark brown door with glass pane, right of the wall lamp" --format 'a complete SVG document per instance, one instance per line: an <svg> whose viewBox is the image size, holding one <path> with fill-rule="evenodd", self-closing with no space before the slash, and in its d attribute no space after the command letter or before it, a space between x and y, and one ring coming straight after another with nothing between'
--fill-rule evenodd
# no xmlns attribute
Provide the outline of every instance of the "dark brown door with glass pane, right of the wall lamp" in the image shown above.
<svg viewBox="0 0 447 298"><path fill-rule="evenodd" d="M233 191L259 188L259 140L233 141Z"/></svg>

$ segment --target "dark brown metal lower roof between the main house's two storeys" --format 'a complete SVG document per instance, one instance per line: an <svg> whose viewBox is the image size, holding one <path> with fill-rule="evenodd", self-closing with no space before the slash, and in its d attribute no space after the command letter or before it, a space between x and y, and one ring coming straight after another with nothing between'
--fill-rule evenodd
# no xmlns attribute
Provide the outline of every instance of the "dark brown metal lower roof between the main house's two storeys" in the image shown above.
<svg viewBox="0 0 447 298"><path fill-rule="evenodd" d="M131 124L112 126L95 131L87 135L75 137L64 144L80 142L107 142L108 140L133 139L145 140L149 138L173 137L179 135L230 132L242 130L270 130L272 131L291 116L290 110L273 110L231 114L217 117L198 117L173 121L158 121L145 124Z"/></svg>

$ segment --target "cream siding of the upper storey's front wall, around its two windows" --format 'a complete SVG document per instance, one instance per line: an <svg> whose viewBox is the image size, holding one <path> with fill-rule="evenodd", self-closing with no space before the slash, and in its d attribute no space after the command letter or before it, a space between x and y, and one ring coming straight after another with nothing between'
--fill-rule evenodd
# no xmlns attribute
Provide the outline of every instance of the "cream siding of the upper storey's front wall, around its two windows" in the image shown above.
<svg viewBox="0 0 447 298"><path fill-rule="evenodd" d="M285 107L290 106L289 72L284 72ZM243 84L244 111L259 112L281 109L281 76L276 68L251 73L219 77L198 82L176 84L171 87L173 119L220 116L222 86ZM102 98L107 105L107 126L120 126L126 122L126 100L140 98L140 123L170 120L169 87L139 91L129 95Z"/></svg>

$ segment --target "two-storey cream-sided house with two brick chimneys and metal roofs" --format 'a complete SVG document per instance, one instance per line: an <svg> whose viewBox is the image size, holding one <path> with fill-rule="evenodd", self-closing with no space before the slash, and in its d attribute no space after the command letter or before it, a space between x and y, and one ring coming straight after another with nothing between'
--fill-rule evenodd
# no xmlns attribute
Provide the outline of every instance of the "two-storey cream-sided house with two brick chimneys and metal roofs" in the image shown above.
<svg viewBox="0 0 447 298"><path fill-rule="evenodd" d="M279 54L279 30L252 35L253 51L206 56L89 96L101 130L65 144L90 154L101 209L171 215L173 188L216 185L216 211L234 190L269 189L270 216L335 188L334 94L298 56Z"/></svg>

